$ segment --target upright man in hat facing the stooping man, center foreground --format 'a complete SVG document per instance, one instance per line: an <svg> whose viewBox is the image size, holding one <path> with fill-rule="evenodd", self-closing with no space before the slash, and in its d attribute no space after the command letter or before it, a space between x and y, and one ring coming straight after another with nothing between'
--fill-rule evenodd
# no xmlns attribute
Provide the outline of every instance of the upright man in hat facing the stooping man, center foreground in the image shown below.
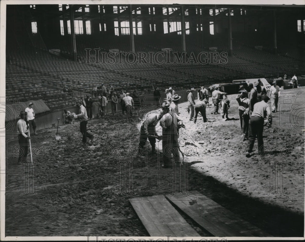
<svg viewBox="0 0 305 242"><path fill-rule="evenodd" d="M174 157L175 162L183 161L183 155L180 153L178 138L179 128L185 128L183 122L178 119L177 115L169 110L169 103L163 103L165 113L160 119L162 127L162 149L163 149L163 165L167 168L170 166L171 157Z"/></svg>

